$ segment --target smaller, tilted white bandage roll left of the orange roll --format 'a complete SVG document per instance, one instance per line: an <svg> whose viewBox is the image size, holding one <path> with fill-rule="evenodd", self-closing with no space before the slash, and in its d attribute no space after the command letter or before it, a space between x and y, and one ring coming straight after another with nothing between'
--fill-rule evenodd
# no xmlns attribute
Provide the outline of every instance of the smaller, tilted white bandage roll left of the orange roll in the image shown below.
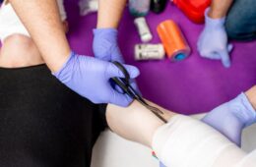
<svg viewBox="0 0 256 167"><path fill-rule="evenodd" d="M141 40L143 42L149 42L153 36L151 30L146 22L146 19L141 17L134 20L134 24L139 31Z"/></svg>

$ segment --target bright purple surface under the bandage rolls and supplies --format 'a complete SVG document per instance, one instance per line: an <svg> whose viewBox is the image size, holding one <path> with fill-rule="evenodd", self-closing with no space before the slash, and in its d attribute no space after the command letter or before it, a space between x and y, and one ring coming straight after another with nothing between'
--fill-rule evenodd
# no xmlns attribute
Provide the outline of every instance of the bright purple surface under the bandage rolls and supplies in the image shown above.
<svg viewBox="0 0 256 167"><path fill-rule="evenodd" d="M96 28L96 14L80 17L74 0L67 0L66 8L70 24L68 38L72 49L80 54L93 55L92 29ZM256 83L255 41L232 41L232 65L225 69L220 61L199 56L196 43L203 25L193 24L170 3L162 14L150 13L147 16L154 35L152 43L160 43L156 28L160 22L168 19L180 26L192 48L190 57L182 62L171 63L168 59L136 62L134 45L141 43L141 40L133 24L134 18L127 9L119 27L121 51L127 64L140 69L141 75L137 82L144 97L178 113L196 114L210 111Z"/></svg>

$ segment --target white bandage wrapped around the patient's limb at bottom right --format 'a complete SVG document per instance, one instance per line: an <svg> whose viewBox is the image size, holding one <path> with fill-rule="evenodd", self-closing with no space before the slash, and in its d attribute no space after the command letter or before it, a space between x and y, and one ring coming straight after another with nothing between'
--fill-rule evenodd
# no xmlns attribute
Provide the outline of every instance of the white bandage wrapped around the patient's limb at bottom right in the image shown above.
<svg viewBox="0 0 256 167"><path fill-rule="evenodd" d="M213 128L181 115L157 130L153 149L167 167L233 167L246 156Z"/></svg>

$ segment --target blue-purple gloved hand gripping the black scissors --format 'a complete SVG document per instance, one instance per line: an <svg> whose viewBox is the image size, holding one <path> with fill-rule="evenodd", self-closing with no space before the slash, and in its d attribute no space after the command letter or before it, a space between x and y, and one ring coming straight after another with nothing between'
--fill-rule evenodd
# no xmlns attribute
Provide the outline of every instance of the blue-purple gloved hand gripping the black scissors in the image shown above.
<svg viewBox="0 0 256 167"><path fill-rule="evenodd" d="M139 75L136 67L124 65L132 79ZM109 79L124 77L112 63L71 53L62 69L53 74L60 82L94 103L127 106L132 99L112 88Z"/></svg>

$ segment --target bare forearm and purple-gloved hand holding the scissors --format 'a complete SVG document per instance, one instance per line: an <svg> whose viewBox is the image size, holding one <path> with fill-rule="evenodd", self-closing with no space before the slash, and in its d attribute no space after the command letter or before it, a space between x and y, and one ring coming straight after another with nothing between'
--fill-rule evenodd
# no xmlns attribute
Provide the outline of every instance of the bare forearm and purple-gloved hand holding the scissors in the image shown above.
<svg viewBox="0 0 256 167"><path fill-rule="evenodd" d="M72 52L59 16L56 0L11 0L16 13L30 32L52 74L80 95L95 103L127 106L132 99L110 85L113 77L123 77L112 63ZM128 67L136 78L139 70Z"/></svg>

